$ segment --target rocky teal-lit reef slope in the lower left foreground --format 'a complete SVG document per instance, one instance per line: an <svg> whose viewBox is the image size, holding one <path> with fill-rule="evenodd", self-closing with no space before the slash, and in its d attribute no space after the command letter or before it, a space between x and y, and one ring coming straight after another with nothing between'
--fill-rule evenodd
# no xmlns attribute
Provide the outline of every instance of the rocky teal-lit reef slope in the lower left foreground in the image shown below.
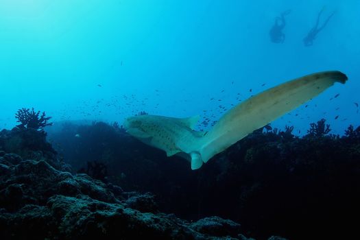
<svg viewBox="0 0 360 240"><path fill-rule="evenodd" d="M16 134L3 130L0 149ZM56 154L23 159L5 151L0 150L0 239L247 239L234 221L182 220L160 213L151 193L125 192L72 174L56 164Z"/></svg>

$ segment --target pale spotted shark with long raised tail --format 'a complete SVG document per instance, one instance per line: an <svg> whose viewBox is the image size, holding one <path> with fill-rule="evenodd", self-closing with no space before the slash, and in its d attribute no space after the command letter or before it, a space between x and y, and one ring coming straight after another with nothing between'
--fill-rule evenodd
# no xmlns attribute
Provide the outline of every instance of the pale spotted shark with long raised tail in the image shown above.
<svg viewBox="0 0 360 240"><path fill-rule="evenodd" d="M279 84L237 104L208 131L195 130L200 116L138 115L125 119L123 127L143 143L164 150L167 156L189 160L193 170L200 169L254 130L298 108L335 82L345 84L347 80L340 71L323 71Z"/></svg>

